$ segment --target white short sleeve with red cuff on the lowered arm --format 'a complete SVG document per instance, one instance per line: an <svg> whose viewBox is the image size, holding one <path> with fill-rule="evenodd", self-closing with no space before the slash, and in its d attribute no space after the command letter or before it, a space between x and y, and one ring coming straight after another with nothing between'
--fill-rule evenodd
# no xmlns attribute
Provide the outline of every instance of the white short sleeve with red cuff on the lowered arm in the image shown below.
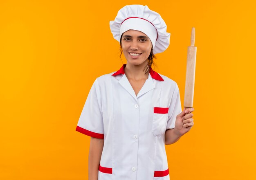
<svg viewBox="0 0 256 180"><path fill-rule="evenodd" d="M92 84L85 101L76 131L94 138L104 138L101 93L97 79Z"/></svg>

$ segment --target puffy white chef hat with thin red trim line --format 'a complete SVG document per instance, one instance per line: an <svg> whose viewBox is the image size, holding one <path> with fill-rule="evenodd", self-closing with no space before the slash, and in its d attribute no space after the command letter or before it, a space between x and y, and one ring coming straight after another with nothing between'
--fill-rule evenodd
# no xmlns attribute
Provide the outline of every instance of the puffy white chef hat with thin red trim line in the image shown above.
<svg viewBox="0 0 256 180"><path fill-rule="evenodd" d="M141 31L152 42L153 53L162 53L170 44L170 33L161 16L143 5L127 5L120 9L114 21L110 21L110 30L118 42L121 35L130 30Z"/></svg>

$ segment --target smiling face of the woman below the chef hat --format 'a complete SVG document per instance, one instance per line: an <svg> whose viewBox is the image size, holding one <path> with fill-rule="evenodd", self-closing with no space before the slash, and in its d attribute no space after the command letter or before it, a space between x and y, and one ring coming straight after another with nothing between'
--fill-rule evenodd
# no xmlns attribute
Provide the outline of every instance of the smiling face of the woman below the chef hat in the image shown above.
<svg viewBox="0 0 256 180"><path fill-rule="evenodd" d="M121 39L122 49L127 64L143 64L150 55L152 43L148 36L141 31L128 30Z"/></svg>

